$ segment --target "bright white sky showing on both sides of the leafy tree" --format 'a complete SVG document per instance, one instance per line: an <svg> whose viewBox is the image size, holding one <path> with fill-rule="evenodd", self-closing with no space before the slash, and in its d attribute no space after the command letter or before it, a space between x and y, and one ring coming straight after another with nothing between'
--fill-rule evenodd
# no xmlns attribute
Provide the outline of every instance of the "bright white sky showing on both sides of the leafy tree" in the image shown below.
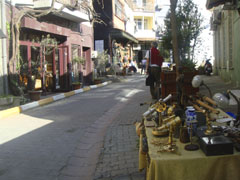
<svg viewBox="0 0 240 180"><path fill-rule="evenodd" d="M199 11L204 18L203 26L205 27L200 35L202 44L204 46L198 47L195 50L195 61L198 65L200 65L202 61L206 59L211 59L211 62L213 62L213 32L210 31L211 12L206 9L206 1L207 0L193 0L193 2L198 5ZM157 0L157 4L162 7L162 10L156 14L159 17L157 18L157 21L159 22L160 26L163 26L163 20L168 12L170 0Z"/></svg>

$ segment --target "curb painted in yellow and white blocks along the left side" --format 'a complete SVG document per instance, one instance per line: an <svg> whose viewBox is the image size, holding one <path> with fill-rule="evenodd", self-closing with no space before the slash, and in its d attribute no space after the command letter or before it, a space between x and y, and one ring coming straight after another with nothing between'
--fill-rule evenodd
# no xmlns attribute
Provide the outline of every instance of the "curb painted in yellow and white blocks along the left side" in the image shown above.
<svg viewBox="0 0 240 180"><path fill-rule="evenodd" d="M107 82L104 82L104 83L101 83L101 84L87 86L87 87L84 87L84 88L81 88L81 89L69 91L67 93L61 93L61 94L58 94L56 96L41 99L39 101L34 101L34 102L27 103L27 104L24 104L24 105L21 105L21 106L17 106L17 107L13 107L13 108L10 108L10 109L2 110L2 111L0 111L0 119L6 118L6 117L9 117L9 116L12 116L12 115L17 115L17 114L20 114L20 113L22 113L24 111L27 111L29 109L33 109L35 107L50 104L52 102L55 102L55 101L73 96L75 94L83 93L83 92L89 91L91 89L96 89L98 87L103 87L103 86L106 86L106 85L111 84L111 83L112 83L112 81L107 81Z"/></svg>

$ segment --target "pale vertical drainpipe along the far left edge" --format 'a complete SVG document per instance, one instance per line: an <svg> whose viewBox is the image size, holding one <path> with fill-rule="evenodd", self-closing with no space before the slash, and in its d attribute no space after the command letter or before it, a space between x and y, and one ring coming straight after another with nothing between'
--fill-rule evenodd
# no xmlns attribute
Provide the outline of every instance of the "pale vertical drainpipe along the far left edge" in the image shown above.
<svg viewBox="0 0 240 180"><path fill-rule="evenodd" d="M1 0L1 27L3 33L6 35L6 11L5 11L5 0ZM3 62L3 77L4 77L4 94L8 94L8 71L7 71L7 40L6 38L2 39L2 62Z"/></svg>

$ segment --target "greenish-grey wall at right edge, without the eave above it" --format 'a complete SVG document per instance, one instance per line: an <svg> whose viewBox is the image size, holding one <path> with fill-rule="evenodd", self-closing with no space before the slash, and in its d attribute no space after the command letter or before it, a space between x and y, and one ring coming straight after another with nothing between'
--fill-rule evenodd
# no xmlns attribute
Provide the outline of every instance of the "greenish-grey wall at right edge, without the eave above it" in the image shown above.
<svg viewBox="0 0 240 180"><path fill-rule="evenodd" d="M226 82L240 86L240 16L237 11L221 11L221 24L214 32L215 72Z"/></svg>

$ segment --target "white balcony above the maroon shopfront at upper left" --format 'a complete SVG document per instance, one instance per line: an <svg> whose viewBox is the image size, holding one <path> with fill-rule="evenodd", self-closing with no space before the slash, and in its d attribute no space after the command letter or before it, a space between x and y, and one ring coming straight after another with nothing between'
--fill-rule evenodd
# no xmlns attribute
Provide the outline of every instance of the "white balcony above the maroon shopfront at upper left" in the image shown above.
<svg viewBox="0 0 240 180"><path fill-rule="evenodd" d="M34 2L35 9L46 9L50 8L52 5L52 0L35 0ZM57 0L54 3L55 10L57 11L54 14L61 18L68 19L77 23L88 22L89 16L88 12L80 6L81 3L89 3L88 1L79 1L79 0Z"/></svg>

